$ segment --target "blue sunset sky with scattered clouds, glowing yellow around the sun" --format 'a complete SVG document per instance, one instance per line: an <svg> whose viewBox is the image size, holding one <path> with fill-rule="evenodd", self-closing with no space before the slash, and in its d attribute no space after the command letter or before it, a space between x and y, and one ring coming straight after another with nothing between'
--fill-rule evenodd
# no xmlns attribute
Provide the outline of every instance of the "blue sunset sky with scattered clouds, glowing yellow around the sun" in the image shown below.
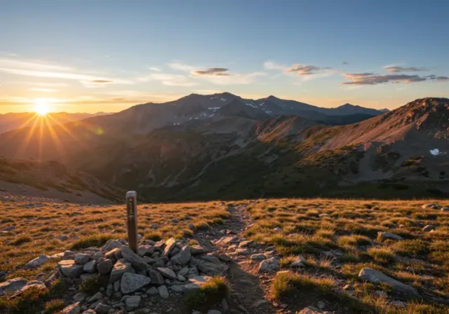
<svg viewBox="0 0 449 314"><path fill-rule="evenodd" d="M449 97L449 1L0 1L0 114L191 93L394 109Z"/></svg>

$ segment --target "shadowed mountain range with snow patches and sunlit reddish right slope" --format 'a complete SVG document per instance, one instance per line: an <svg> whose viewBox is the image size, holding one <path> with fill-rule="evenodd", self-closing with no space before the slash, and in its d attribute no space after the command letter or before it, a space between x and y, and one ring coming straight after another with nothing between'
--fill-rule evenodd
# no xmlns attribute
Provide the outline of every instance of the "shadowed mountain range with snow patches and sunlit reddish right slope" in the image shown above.
<svg viewBox="0 0 449 314"><path fill-rule="evenodd" d="M383 112L192 94L5 132L0 155L56 160L158 201L447 196L448 121L445 98Z"/></svg>

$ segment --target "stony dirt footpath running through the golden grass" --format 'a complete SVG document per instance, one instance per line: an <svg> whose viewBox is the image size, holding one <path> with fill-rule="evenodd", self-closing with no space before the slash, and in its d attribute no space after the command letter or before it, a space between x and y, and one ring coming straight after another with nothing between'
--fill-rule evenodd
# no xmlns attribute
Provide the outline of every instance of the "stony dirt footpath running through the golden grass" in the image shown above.
<svg viewBox="0 0 449 314"><path fill-rule="evenodd" d="M246 241L245 231L252 224L250 215L246 212L246 205L229 207L230 219L222 226L214 228L197 240L214 250L223 261L229 258L229 271L226 278L232 287L230 295L231 313L272 314L279 313L275 305L267 298L270 278L257 273L259 262L252 262L252 254L264 252L262 245L252 243L239 247ZM223 244L227 240L229 243ZM232 240L231 240L232 239ZM276 305L277 306L277 305Z"/></svg>

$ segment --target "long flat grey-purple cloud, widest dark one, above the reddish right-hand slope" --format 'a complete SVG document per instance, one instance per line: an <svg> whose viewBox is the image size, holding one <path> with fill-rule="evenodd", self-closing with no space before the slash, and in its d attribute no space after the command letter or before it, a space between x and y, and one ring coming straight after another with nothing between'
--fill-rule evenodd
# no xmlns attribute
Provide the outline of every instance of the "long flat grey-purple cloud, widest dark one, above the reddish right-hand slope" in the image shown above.
<svg viewBox="0 0 449 314"><path fill-rule="evenodd" d="M382 83L415 83L427 81L424 76L406 74L379 75L369 73L344 73L342 74L348 81L344 85L377 85Z"/></svg>

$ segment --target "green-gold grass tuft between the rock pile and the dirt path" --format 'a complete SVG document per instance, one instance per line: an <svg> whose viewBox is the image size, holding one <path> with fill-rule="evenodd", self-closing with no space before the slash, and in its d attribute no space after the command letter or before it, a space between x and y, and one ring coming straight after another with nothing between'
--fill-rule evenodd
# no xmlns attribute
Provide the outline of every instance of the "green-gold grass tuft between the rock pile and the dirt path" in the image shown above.
<svg viewBox="0 0 449 314"><path fill-rule="evenodd" d="M187 296L187 306L190 309L206 310L222 299L226 299L228 293L229 287L225 278L215 276Z"/></svg>

